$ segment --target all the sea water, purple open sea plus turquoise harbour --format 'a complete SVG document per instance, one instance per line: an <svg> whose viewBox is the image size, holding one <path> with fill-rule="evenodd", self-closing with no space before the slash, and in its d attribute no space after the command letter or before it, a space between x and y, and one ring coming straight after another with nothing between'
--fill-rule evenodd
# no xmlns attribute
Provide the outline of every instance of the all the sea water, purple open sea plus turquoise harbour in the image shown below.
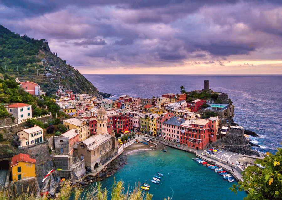
<svg viewBox="0 0 282 200"><path fill-rule="evenodd" d="M234 122L256 132L259 137L250 141L260 145L254 150L275 154L282 141L282 76L281 75L84 75L101 92L112 94L111 99L120 95L151 98L165 93L180 93L183 85L186 91L201 90L204 80L209 80L210 89L227 93L235 106ZM235 195L229 183L206 166L197 164L192 153L166 147L161 150L138 150L129 153L128 164L114 176L101 181L102 188L111 191L114 178L124 182L125 191L136 183L151 185L149 193L154 200L167 197L172 199L243 199L243 191ZM150 182L157 172L164 177L160 184ZM237 184L237 182L235 182ZM90 189L90 188L88 188ZM110 193L110 192L109 192ZM110 199L110 197L108 198Z"/></svg>

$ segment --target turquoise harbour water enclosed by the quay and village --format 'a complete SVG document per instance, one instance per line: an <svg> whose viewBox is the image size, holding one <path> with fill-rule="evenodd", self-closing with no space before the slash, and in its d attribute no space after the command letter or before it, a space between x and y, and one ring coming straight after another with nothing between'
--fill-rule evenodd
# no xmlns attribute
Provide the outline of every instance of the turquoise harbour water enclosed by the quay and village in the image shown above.
<svg viewBox="0 0 282 200"><path fill-rule="evenodd" d="M127 155L128 164L124 165L115 175L101 181L102 187L111 191L114 177L116 181L124 182L125 190L128 184L132 188L135 183L148 183L154 200L163 200L168 196L174 200L180 199L243 199L247 194L238 192L237 196L228 188L233 183L224 180L212 169L202 166L192 158L195 154L166 147L161 150L138 150ZM164 174L160 184L150 181L157 172ZM237 182L235 182L237 183Z"/></svg>

